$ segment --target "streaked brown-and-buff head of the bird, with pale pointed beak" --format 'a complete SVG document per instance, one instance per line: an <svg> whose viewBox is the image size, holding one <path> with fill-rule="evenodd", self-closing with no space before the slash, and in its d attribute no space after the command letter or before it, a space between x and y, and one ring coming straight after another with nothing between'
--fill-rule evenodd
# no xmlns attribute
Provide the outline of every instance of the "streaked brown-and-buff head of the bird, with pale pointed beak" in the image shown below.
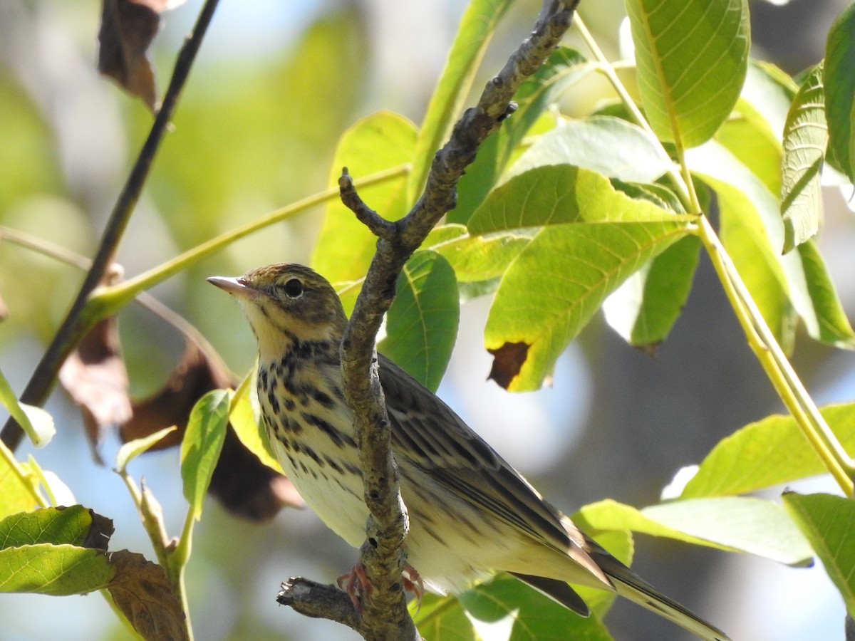
<svg viewBox="0 0 855 641"><path fill-rule="evenodd" d="M208 282L238 299L262 360L280 356L293 337L339 341L345 330L345 311L333 286L303 265L283 262L238 278L212 276Z"/></svg>

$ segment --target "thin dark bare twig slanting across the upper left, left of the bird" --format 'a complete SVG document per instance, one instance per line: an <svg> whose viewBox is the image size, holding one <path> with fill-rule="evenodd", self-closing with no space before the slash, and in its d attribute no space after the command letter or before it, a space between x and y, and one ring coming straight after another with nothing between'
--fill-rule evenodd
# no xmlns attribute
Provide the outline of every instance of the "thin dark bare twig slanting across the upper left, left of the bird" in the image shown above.
<svg viewBox="0 0 855 641"><path fill-rule="evenodd" d="M205 0L192 33L186 38L184 45L181 47L178 58L175 61L172 79L169 82L166 95L163 97L161 108L157 112L155 121L151 125L149 136L146 138L142 150L139 151L139 156L137 156L131 173L128 175L125 185L116 200L113 211L107 221L107 226L104 227L101 242L98 244L97 254L92 259L92 267L86 273L83 284L80 285L80 291L78 291L77 297L74 298L74 303L71 304L71 309L68 310L68 314L62 321L62 325L56 331L56 335L50 342L48 349L45 350L44 356L38 362L35 371L27 383L27 387L21 394L21 402L23 403L44 405L44 401L47 400L50 390L56 384L56 374L59 372L59 368L62 367L62 362L65 361L89 330L88 323L85 322L81 314L85 308L86 300L91 292L102 283L104 276L115 262L119 243L127 228L127 223L131 219L133 209L139 200L139 194L143 190L151 163L154 161L163 133L167 131L175 105L178 103L181 90L186 83L187 76L190 74L190 68L196 59L199 46L202 44L204 34L208 29L218 2L219 0ZM18 445L21 444L23 435L24 432L21 430L21 426L14 419L10 418L6 422L6 425L3 426L0 438L3 439L3 444L9 447L9 450L15 451Z"/></svg>

